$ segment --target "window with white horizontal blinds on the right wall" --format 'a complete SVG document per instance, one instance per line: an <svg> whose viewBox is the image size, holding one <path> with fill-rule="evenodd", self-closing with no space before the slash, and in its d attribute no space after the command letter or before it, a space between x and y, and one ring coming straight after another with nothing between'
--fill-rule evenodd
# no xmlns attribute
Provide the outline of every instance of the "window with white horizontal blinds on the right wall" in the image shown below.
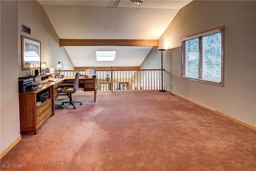
<svg viewBox="0 0 256 171"><path fill-rule="evenodd" d="M182 38L182 78L223 86L224 26Z"/></svg>

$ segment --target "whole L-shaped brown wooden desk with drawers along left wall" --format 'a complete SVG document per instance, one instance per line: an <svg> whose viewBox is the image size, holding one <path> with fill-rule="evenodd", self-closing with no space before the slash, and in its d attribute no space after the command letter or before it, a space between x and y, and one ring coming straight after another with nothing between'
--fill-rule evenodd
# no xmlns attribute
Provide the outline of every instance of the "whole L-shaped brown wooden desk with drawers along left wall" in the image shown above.
<svg viewBox="0 0 256 171"><path fill-rule="evenodd" d="M74 81L74 77L66 77L54 82L42 81L42 85L35 90L19 93L21 132L33 131L36 135L42 124L54 115L54 100L58 98L59 86L65 81ZM94 91L94 101L96 102L97 79L80 77L79 83L84 91ZM37 96L46 91L48 92L48 100L36 107Z"/></svg>

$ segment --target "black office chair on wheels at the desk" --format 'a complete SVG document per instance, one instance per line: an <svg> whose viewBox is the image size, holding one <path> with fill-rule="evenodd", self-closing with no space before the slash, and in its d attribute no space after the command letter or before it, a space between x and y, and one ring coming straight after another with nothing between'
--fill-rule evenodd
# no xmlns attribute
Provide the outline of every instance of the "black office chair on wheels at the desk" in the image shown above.
<svg viewBox="0 0 256 171"><path fill-rule="evenodd" d="M74 103L80 103L80 105L82 105L81 102L75 102L74 100L72 100L72 93L75 93L79 88L79 77L80 77L80 72L77 72L73 84L62 84L62 85L60 85L60 87L59 87L60 92L63 92L63 93L66 93L66 94L69 95L69 102L62 102L62 106L61 106L62 109L64 109L64 106L67 106L69 104L74 106L74 109L76 108Z"/></svg>

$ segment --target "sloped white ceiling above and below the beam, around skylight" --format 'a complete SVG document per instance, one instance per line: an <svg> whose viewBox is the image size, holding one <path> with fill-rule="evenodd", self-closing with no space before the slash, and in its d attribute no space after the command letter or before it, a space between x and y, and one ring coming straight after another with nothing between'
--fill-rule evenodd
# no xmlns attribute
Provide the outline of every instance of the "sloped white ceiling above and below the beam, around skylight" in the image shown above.
<svg viewBox="0 0 256 171"><path fill-rule="evenodd" d="M159 39L191 0L39 0L60 39ZM75 67L140 66L152 47L65 47ZM95 51L116 50L115 61L97 62Z"/></svg>

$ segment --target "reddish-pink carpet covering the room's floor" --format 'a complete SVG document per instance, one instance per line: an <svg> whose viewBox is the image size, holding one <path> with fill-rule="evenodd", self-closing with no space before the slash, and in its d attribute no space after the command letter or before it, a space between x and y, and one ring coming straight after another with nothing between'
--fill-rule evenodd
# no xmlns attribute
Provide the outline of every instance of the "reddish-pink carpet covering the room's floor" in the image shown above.
<svg viewBox="0 0 256 171"><path fill-rule="evenodd" d="M255 171L256 131L168 92L76 92L1 171ZM11 168L3 168L10 164ZM13 165L22 165L21 169Z"/></svg>

